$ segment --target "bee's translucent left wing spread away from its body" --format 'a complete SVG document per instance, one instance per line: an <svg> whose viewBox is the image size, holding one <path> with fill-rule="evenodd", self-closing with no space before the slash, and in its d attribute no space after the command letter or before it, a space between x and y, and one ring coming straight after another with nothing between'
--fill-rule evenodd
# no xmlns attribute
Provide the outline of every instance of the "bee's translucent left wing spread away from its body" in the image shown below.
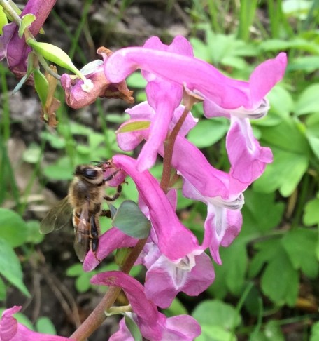
<svg viewBox="0 0 319 341"><path fill-rule="evenodd" d="M57 203L57 206L51 208L47 215L43 218L40 225L40 232L47 234L54 229L62 229L65 225L70 224L72 216L72 207L68 201L68 197Z"/></svg>

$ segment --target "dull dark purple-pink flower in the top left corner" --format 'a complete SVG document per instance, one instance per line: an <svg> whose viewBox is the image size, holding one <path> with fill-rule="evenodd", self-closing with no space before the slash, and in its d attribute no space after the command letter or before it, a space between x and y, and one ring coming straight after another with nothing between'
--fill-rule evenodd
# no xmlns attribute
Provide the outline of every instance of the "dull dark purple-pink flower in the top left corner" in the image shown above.
<svg viewBox="0 0 319 341"><path fill-rule="evenodd" d="M31 34L36 36L50 14L56 0L29 0L20 17L31 13L36 20L29 27ZM31 48L25 43L24 36L19 38L15 22L3 27L3 36L0 36L0 60L7 58L8 67L17 78L22 78L27 72L27 57Z"/></svg>

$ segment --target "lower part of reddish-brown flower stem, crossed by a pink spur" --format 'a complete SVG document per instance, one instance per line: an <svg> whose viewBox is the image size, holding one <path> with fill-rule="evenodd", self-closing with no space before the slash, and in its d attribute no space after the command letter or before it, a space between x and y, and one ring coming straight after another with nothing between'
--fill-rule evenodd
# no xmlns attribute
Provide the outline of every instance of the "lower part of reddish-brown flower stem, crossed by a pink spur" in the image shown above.
<svg viewBox="0 0 319 341"><path fill-rule="evenodd" d="M139 257L141 250L143 250L144 245L146 244L147 239L140 239L136 246L133 248L124 265L121 268L121 271L125 274L128 274L132 269L136 259ZM105 311L109 309L115 302L116 298L120 294L121 288L110 287L102 298L99 305L95 307L93 312L87 317L87 319L80 325L80 327L70 336L72 340L83 341L86 340L87 337L92 335L101 323L106 319Z"/></svg>

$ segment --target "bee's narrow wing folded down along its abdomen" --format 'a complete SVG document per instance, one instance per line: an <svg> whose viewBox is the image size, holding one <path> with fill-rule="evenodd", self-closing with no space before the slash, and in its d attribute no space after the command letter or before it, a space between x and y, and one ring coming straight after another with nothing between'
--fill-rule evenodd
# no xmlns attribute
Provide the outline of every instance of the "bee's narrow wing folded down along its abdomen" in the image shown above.
<svg viewBox="0 0 319 341"><path fill-rule="evenodd" d="M87 206L83 207L80 218L76 218L78 221L74 225L74 232L76 234L74 239L74 250L80 262L83 262L87 251L89 250L90 244L90 221L89 221L89 210Z"/></svg>

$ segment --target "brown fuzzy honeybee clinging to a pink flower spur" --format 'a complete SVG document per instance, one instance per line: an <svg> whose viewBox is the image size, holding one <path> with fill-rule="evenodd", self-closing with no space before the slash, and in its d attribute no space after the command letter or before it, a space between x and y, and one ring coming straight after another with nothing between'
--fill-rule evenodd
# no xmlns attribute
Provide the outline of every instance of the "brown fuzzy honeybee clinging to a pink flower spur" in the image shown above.
<svg viewBox="0 0 319 341"><path fill-rule="evenodd" d="M115 170L104 179L104 170L111 168L111 163L99 163L97 166L80 165L76 167L74 178L69 187L69 193L62 201L53 207L40 226L40 232L47 234L53 230L70 225L71 217L74 227L74 250L78 259L83 262L88 250L92 250L97 258L99 247L99 215L108 215L108 210L101 209L101 202L114 201L120 196L122 186L118 185L113 196L106 196L104 189L107 182L119 172ZM97 258L97 260L99 260ZM99 260L100 261L100 260Z"/></svg>

